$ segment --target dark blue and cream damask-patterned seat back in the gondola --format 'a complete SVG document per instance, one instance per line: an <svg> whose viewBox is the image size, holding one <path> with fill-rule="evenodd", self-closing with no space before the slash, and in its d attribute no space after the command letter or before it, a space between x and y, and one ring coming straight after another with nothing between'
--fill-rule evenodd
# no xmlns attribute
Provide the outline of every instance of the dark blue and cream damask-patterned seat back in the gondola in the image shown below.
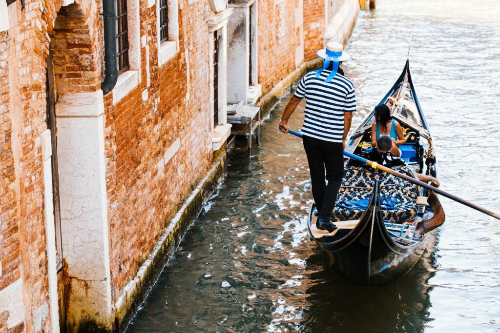
<svg viewBox="0 0 500 333"><path fill-rule="evenodd" d="M414 177L406 166L394 167L401 173ZM402 223L413 221L416 214L416 185L386 173L349 166L345 169L342 185L333 209L335 221L359 219L373 193L375 179L379 180L382 216L386 221Z"/></svg>

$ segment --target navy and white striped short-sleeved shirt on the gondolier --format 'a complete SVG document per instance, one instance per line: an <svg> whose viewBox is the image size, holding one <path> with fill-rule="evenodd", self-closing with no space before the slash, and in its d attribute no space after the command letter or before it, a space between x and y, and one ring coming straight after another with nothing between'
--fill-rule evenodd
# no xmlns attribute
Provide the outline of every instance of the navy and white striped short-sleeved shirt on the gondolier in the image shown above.
<svg viewBox="0 0 500 333"><path fill-rule="evenodd" d="M302 78L294 96L305 96L305 118L301 133L316 139L342 142L344 112L356 110L354 85L336 73L331 82L324 82L330 73L323 70L319 78L312 71Z"/></svg>

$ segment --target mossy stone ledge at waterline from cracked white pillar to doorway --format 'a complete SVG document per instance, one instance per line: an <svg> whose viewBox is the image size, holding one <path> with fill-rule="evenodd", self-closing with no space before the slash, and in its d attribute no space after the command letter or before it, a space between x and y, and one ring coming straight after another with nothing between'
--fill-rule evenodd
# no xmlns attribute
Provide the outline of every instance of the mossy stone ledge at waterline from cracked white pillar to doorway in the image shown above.
<svg viewBox="0 0 500 333"><path fill-rule="evenodd" d="M113 332L122 332L126 328L138 306L158 279L163 267L178 247L187 229L198 216L203 203L224 178L226 171L225 151L224 145L219 149L219 156L216 156L218 158L212 163L206 176L201 179L198 186L168 223L133 280L129 281L120 291L113 309Z"/></svg>

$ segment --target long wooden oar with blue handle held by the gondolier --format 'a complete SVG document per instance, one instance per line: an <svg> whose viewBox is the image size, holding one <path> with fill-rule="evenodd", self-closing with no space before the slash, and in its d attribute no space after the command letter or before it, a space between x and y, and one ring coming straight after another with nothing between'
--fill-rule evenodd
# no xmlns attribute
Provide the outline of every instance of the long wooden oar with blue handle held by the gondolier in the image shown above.
<svg viewBox="0 0 500 333"><path fill-rule="evenodd" d="M284 128L283 128L283 127L281 127L281 126L279 126L279 129L284 129ZM293 134L293 135L295 135L295 136L298 136L299 138L301 138L301 137L302 137L302 134L300 134L299 132L293 131L293 130L291 130L291 129L289 129L289 130L288 130L288 133ZM443 197L446 197L446 198L448 198L448 199L451 199L451 200L454 200L454 201L456 201L456 202L459 202L459 203L461 203L461 204L463 204L463 205L465 205L465 206L468 206L468 207L470 207L470 208L472 208L472 209L475 209L476 211L479 211L479 212L481 212L481 213L487 214L487 215L489 215L489 216L491 216L491 217L494 217L495 219L500 220L500 214L495 213L495 212L492 212L492 211L490 211L490 210L488 210L488 209L486 209L486 208L483 208L483 207L481 207L481 206L478 206L478 205L476 205L476 204L474 204L474 203L471 203L471 202L469 202L469 201L467 201L467 200L463 200L463 199L461 199L461 198L458 198L457 196L454 196L454 195L452 195L452 194L450 194L450 193L444 192L443 190L440 190L440 189L438 189L437 187L434 187L434 186L429 185L429 184L427 184L427 183L421 182L421 181L419 181L419 180L417 180L417 179L414 179L414 178L412 178L412 177L406 176L406 175L404 175L404 174L402 174L402 173L399 173L399 172L397 172L397 171L394 171L394 170L392 170L392 169L389 169L389 168L387 168L387 167L384 167L383 165L380 165L380 164L378 164L378 163L376 163L376 162L372 162L372 161L370 161L370 160L367 160L367 159L362 158L362 157L360 157L360 156L357 156L357 155L354 155L354 154L348 153L348 152L346 152L346 151L344 151L344 152L343 152L343 154L344 154L345 156L347 156L347 157L350 157L350 158L352 158L352 159L355 159L356 161L359 161L359 162L361 162L361 163L364 163L364 164L366 164L366 165L368 165L368 166L372 167L373 169L378 169L378 170L382 170L382 171L384 171L384 172L390 173L391 175L394 175L394 176L396 176L396 177L402 178L402 179L404 179L404 180L405 180L405 181L407 181L407 182L410 182L410 183L412 183L412 184L416 184L416 185L418 185L418 186L421 186L421 187L423 187L423 188L426 188L427 190L434 191L435 193L440 194L440 195L442 195Z"/></svg>

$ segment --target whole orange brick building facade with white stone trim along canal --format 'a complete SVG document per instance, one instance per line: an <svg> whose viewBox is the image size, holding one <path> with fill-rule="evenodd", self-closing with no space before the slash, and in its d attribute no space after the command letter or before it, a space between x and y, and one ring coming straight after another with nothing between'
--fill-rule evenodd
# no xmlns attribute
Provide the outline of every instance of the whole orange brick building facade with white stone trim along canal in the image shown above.
<svg viewBox="0 0 500 333"><path fill-rule="evenodd" d="M0 0L0 332L122 330L223 176L227 103L269 100L358 8L107 1Z"/></svg>

